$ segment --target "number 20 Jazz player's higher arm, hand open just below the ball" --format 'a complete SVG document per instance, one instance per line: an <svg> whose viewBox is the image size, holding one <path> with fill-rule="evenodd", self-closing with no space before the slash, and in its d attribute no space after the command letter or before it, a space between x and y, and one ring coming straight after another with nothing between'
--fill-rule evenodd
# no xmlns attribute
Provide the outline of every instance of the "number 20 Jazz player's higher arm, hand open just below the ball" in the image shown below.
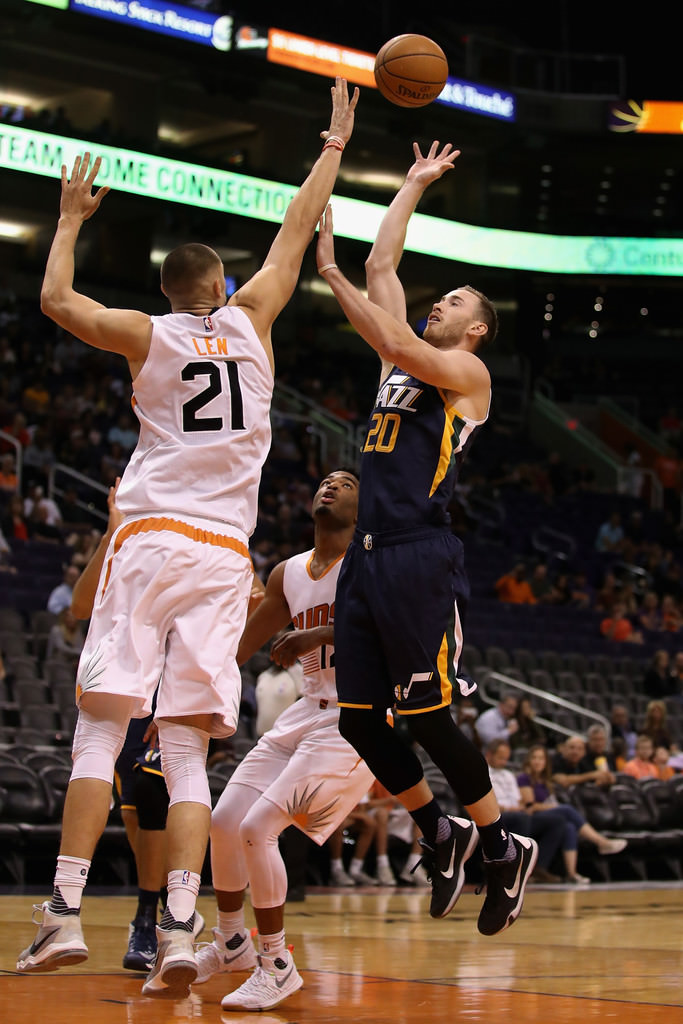
<svg viewBox="0 0 683 1024"><path fill-rule="evenodd" d="M366 260L368 298L399 321L407 318L407 310L405 294L396 270L403 254L409 220L427 185L453 170L460 156L460 150L454 150L451 142L440 152L438 146L438 142L432 142L429 153L423 157L418 143L413 143L415 163L384 214Z"/></svg>

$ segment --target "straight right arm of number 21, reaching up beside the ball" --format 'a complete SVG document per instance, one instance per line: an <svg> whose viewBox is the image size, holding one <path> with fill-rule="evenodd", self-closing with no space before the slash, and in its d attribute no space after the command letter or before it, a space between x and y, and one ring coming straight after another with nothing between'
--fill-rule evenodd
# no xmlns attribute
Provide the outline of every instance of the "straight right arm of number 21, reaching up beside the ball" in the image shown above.
<svg viewBox="0 0 683 1024"><path fill-rule="evenodd" d="M292 199L263 266L229 300L230 305L246 310L266 344L273 321L292 297L304 253L332 195L342 152L353 131L357 100L358 89L349 99L346 80L337 78L332 87L330 128L322 132L323 152Z"/></svg>

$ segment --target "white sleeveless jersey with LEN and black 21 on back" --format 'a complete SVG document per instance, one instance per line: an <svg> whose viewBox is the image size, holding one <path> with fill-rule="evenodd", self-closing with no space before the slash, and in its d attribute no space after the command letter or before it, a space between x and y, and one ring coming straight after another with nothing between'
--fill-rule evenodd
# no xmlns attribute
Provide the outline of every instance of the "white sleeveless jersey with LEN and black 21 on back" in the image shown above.
<svg viewBox="0 0 683 1024"><path fill-rule="evenodd" d="M238 306L167 313L152 325L133 381L140 435L117 504L127 515L202 516L250 537L270 447L273 381L263 345Z"/></svg>

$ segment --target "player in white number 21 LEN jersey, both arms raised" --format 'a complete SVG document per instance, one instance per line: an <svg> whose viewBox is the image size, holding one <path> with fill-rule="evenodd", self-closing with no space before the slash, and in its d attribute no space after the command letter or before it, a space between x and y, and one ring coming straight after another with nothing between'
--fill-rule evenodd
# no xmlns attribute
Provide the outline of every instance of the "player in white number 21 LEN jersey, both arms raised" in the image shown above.
<svg viewBox="0 0 683 1024"><path fill-rule="evenodd" d="M193 928L211 820L206 755L234 731L237 649L249 601L261 468L270 444L272 324L291 298L351 135L357 90L332 88L323 152L288 207L261 269L226 302L220 257L173 250L161 270L164 316L111 309L74 290L74 250L99 207L100 166L61 169L59 221L41 292L43 312L95 348L128 359L140 436L118 492L123 524L98 584L77 677L79 721L54 890L20 972L87 957L81 896L110 807L131 717L156 719L169 792L168 904L146 995L183 997L197 977Z"/></svg>

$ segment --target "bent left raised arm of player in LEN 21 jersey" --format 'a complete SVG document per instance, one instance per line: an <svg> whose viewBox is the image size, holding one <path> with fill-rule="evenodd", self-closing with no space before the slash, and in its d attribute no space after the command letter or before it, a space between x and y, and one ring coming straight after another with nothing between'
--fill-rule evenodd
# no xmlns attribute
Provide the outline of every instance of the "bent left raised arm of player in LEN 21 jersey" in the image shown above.
<svg viewBox="0 0 683 1024"><path fill-rule="evenodd" d="M134 309L108 309L100 302L74 290L74 252L81 227L99 209L109 193L92 186L101 157L90 164L90 154L77 157L71 177L61 167L59 220L47 257L40 293L42 311L66 331L94 348L120 352L133 365L146 356L151 337L150 317ZM131 367L131 371L133 367Z"/></svg>

